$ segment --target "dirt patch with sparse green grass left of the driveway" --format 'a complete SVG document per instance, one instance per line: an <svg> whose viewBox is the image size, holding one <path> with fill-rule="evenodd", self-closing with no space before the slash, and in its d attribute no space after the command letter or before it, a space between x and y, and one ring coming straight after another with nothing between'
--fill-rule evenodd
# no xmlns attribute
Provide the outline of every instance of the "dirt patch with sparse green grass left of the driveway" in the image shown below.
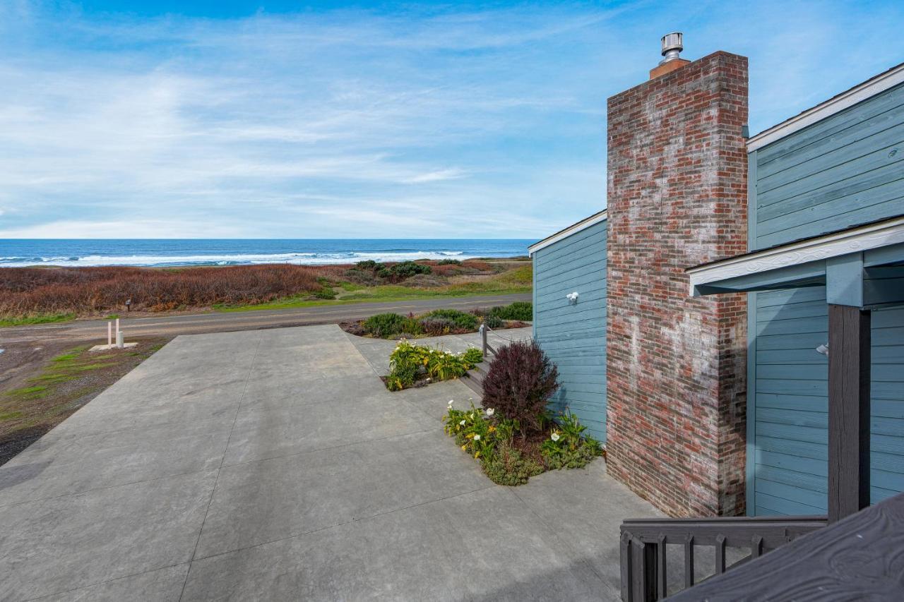
<svg viewBox="0 0 904 602"><path fill-rule="evenodd" d="M0 354L0 466L155 353L169 337L90 352L80 345L14 343Z"/></svg>

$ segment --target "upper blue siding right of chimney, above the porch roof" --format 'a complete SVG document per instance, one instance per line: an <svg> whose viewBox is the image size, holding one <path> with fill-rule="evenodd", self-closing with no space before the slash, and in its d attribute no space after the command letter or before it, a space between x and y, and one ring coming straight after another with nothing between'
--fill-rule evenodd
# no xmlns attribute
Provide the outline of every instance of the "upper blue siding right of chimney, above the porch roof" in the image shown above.
<svg viewBox="0 0 904 602"><path fill-rule="evenodd" d="M751 250L897 215L904 206L904 84L755 157Z"/></svg>

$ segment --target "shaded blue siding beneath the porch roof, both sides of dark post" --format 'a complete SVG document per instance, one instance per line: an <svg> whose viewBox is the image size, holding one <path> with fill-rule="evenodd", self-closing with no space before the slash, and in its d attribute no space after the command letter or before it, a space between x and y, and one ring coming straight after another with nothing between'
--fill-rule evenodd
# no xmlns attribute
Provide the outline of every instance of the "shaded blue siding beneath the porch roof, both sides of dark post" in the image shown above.
<svg viewBox="0 0 904 602"><path fill-rule="evenodd" d="M754 512L825 513L828 341L824 287L756 296ZM871 501L904 492L904 308L872 315Z"/></svg>

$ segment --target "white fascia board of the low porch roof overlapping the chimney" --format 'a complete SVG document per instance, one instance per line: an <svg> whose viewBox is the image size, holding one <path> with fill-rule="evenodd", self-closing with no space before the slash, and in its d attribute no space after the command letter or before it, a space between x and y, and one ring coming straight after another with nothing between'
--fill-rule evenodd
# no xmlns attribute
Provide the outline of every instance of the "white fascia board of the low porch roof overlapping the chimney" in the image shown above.
<svg viewBox="0 0 904 602"><path fill-rule="evenodd" d="M758 274L771 269L798 266L810 261L878 249L902 242L904 242L904 217L792 242L758 253L723 259L687 270L691 279L691 294L693 295L695 287L720 280Z"/></svg>

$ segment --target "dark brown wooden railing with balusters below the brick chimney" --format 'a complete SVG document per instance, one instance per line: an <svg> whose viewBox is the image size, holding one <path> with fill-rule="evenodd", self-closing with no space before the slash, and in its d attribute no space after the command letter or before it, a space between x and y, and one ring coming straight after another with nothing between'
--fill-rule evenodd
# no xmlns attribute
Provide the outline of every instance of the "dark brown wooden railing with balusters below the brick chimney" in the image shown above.
<svg viewBox="0 0 904 602"><path fill-rule="evenodd" d="M825 516L626 520L621 526L621 597L625 602L647 602L668 595L668 545L682 546L682 587L691 588L696 546L713 548L712 573L719 575L731 566L822 529L827 522ZM726 552L730 548L749 550L749 554L728 565Z"/></svg>

